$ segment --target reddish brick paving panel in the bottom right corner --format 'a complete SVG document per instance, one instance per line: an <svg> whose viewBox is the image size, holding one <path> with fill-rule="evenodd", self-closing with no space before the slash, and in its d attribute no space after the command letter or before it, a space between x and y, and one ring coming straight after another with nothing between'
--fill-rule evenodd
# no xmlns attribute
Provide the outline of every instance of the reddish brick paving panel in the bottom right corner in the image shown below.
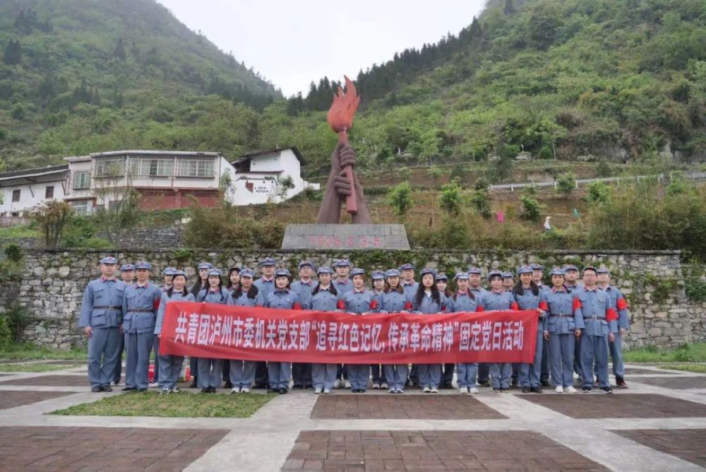
<svg viewBox="0 0 706 472"><path fill-rule="evenodd" d="M704 449L706 430L615 430L611 432L706 468L706 449Z"/></svg>

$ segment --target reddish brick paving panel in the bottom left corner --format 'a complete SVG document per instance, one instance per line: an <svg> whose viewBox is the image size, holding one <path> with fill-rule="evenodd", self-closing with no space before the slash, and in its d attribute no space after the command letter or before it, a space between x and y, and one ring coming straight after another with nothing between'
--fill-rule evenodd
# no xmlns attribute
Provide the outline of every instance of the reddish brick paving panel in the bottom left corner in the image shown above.
<svg viewBox="0 0 706 472"><path fill-rule="evenodd" d="M227 430L0 427L4 471L181 471Z"/></svg>

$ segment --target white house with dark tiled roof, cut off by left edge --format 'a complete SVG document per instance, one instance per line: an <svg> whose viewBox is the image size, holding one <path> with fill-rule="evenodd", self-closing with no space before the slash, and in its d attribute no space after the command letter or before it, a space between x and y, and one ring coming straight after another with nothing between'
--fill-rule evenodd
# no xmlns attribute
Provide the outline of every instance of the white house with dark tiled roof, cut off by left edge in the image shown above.
<svg viewBox="0 0 706 472"><path fill-rule="evenodd" d="M32 206L50 200L63 200L68 185L68 165L0 174L0 217L21 217Z"/></svg>

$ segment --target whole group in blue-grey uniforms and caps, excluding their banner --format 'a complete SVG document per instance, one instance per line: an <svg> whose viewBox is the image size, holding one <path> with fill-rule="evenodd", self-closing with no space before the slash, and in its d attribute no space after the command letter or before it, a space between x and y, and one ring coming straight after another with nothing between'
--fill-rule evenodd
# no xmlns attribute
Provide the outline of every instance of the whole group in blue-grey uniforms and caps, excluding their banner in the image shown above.
<svg viewBox="0 0 706 472"><path fill-rule="evenodd" d="M410 368L407 363L338 365L191 358L191 388L203 393L225 386L234 394L252 388L286 394L290 384L293 389L313 389L316 394L330 394L336 388L363 393L370 386L387 389L390 394L402 394L407 387L436 393L440 388L454 388L454 372L461 394L477 394L478 387L505 392L511 386L521 388L522 393L540 394L542 387L552 384L557 393L574 393L574 372L582 391L612 393L609 355L617 386L627 388L622 338L629 329L628 305L603 267L586 266L581 271L573 265L557 267L549 272L549 285L544 285L544 267L539 264L522 266L516 273L490 271L485 278L480 269L472 267L455 273L453 280L429 267L419 271L417 280L413 264L372 271L368 276L345 259L335 261L333 267L318 268L311 261L301 261L296 280L289 270L276 267L275 259L266 258L259 262L257 275L240 267L223 273L203 262L197 268L198 280L187 288L184 271L165 269L159 286L150 280L152 266L148 262L123 264L118 269L114 257L104 257L100 278L85 289L78 322L89 337L91 390L112 391L111 384L119 383L125 352L123 390L146 391L154 350L154 376L161 393L179 392L184 358L158 352L164 309L172 300L356 315L508 309L536 309L538 313L534 360L528 364L461 362L413 364ZM118 271L121 280L116 277Z"/></svg>

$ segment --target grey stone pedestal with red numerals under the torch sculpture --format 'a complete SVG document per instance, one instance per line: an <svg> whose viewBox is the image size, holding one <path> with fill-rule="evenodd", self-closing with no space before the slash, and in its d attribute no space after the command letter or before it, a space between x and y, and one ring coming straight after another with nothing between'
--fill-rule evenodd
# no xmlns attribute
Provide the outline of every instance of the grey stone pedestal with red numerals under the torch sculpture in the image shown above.
<svg viewBox="0 0 706 472"><path fill-rule="evenodd" d="M409 249L405 225L287 225L282 249Z"/></svg>

